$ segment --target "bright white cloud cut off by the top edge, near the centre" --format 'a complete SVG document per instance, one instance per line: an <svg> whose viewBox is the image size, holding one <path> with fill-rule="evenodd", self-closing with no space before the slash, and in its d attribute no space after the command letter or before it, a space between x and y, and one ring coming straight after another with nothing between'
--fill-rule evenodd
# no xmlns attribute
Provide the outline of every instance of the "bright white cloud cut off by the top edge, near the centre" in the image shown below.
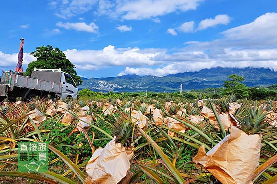
<svg viewBox="0 0 277 184"><path fill-rule="evenodd" d="M119 4L117 11L126 20L142 20L175 11L195 10L203 0L137 0Z"/></svg>

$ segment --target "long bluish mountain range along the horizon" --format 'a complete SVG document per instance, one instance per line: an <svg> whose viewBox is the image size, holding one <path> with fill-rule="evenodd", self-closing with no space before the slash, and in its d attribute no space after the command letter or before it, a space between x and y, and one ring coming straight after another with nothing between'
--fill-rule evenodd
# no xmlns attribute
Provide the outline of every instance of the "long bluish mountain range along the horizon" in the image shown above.
<svg viewBox="0 0 277 184"><path fill-rule="evenodd" d="M265 87L277 84L277 72L268 68L222 68L202 69L197 72L170 74L163 77L123 75L106 78L82 78L79 89L88 88L95 92L175 92L222 87L228 76L243 76L248 87Z"/></svg>

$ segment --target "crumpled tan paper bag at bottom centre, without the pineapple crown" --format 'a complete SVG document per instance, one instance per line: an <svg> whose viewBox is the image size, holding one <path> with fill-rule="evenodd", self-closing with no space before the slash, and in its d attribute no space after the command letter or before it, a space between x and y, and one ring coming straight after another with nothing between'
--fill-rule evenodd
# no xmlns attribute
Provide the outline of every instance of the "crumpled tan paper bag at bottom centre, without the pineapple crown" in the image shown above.
<svg viewBox="0 0 277 184"><path fill-rule="evenodd" d="M128 174L133 151L126 150L115 139L116 137L104 148L100 147L93 153L86 166L89 175L86 184L117 184Z"/></svg>

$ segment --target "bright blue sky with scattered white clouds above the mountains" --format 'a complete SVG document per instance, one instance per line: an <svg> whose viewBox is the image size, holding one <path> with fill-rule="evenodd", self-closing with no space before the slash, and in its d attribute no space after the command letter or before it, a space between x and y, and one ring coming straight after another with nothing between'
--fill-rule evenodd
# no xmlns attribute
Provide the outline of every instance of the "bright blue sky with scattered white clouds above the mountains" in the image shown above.
<svg viewBox="0 0 277 184"><path fill-rule="evenodd" d="M58 47L78 75L164 76L203 68L277 71L277 0L1 0L0 69Z"/></svg>

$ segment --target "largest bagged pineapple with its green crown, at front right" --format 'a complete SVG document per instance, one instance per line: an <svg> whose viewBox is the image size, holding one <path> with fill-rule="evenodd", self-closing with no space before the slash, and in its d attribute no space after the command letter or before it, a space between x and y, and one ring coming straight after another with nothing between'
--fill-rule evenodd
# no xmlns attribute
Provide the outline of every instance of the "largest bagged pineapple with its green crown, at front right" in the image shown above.
<svg viewBox="0 0 277 184"><path fill-rule="evenodd" d="M230 134L210 151L206 153L205 147L200 146L193 161L202 164L223 184L252 183L260 161L261 132L266 124L266 114L254 103L246 113L237 116L239 125L231 125Z"/></svg>

